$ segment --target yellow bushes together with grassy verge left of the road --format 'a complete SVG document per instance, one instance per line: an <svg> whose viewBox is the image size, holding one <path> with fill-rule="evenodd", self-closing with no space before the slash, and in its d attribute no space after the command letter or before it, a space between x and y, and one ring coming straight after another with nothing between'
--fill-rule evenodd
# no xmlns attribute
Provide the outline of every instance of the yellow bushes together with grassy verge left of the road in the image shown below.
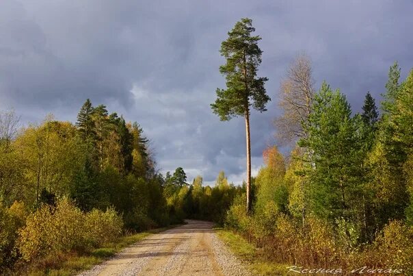
<svg viewBox="0 0 413 276"><path fill-rule="evenodd" d="M72 275L166 229L130 234L113 208L82 212L66 197L31 214L16 202L0 216L4 275Z"/></svg>

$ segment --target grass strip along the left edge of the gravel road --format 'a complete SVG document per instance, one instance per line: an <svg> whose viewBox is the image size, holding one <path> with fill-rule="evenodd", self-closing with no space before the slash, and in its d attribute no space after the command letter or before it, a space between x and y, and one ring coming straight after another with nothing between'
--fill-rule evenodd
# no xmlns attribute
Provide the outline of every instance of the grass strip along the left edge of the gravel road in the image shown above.
<svg viewBox="0 0 413 276"><path fill-rule="evenodd" d="M53 255L48 258L44 258L41 262L36 262L36 264L21 266L14 273L14 275L76 275L81 271L88 270L96 264L100 264L101 262L111 258L116 253L122 251L122 249L134 244L135 242L139 242L152 234L157 234L161 231L165 231L176 226L178 225L171 225L169 227L151 229L137 234L122 236L115 242L107 242L103 244L102 247L92 249L90 251L74 251L70 253Z"/></svg>

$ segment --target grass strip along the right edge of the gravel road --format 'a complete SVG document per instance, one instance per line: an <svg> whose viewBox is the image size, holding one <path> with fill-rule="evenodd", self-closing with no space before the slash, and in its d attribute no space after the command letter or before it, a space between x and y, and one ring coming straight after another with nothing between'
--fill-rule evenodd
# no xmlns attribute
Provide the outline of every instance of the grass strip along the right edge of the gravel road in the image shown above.
<svg viewBox="0 0 413 276"><path fill-rule="evenodd" d="M260 249L245 240L239 234L216 227L217 236L224 242L239 260L245 262L254 275L287 275L288 264L276 264L265 260Z"/></svg>

